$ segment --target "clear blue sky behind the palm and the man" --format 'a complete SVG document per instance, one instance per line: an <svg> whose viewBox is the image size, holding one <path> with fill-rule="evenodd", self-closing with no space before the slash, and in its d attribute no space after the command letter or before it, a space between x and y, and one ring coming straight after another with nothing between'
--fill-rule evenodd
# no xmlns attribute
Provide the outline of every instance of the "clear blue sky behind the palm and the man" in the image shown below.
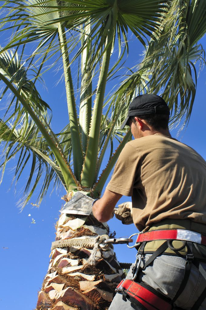
<svg viewBox="0 0 206 310"><path fill-rule="evenodd" d="M201 40L201 43L206 48L205 37ZM3 42L0 44L3 45ZM141 51L140 44L131 49L128 66L132 67L138 62ZM52 128L55 132L63 128L68 121L65 92L62 91L64 84L59 83L56 85L61 73L61 71L47 73L44 78L48 91L43 88L41 90L43 99L52 106ZM206 69L204 68L198 78L197 93L189 125L185 130L181 131L178 137L177 130L173 130L171 134L181 142L190 145L206 160L205 81ZM3 103L1 104L3 105ZM18 201L22 197L27 174L25 172L25 175L20 178L16 189L14 185L11 186L12 170L15 164L15 160L8 164L5 177L0 186L2 205L0 219L2 228L0 308L10 309L13 307L15 310L32 310L36 307L38 291L47 272L51 243L55 240L55 223L59 216L59 210L64 203L61 196L65 194L65 191L59 189L53 191L53 193L49 191L39 208L30 204L35 203L34 197L25 209L20 212ZM123 197L120 203L129 199ZM35 224L31 223L32 219L35 220ZM109 226L111 231L116 232L117 237L125 237L137 232L133 224L123 226L115 218L109 221ZM115 251L120 262L133 262L135 260L136 250L127 249L125 245L115 246Z"/></svg>

